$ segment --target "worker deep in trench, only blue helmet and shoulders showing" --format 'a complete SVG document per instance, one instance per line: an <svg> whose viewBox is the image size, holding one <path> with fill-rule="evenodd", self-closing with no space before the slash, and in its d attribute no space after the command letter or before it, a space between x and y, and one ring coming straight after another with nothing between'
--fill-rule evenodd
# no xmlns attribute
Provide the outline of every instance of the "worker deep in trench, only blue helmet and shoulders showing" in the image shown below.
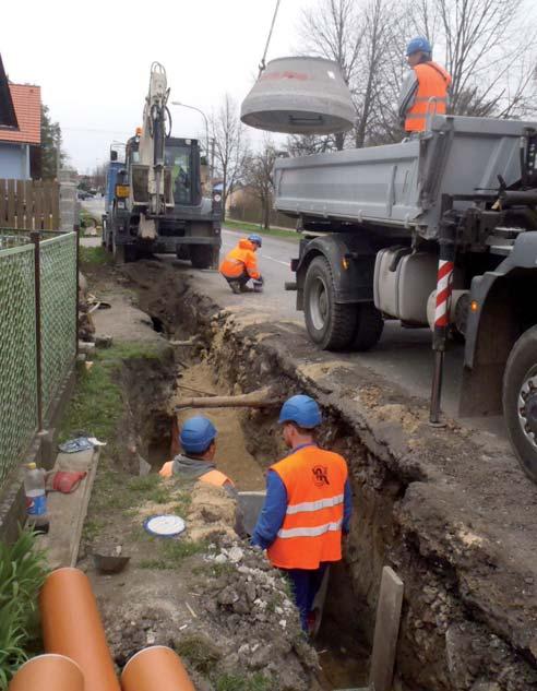
<svg viewBox="0 0 537 691"><path fill-rule="evenodd" d="M183 453L178 453L165 463L159 475L164 478L178 476L187 482L202 481L224 488L237 502L235 531L240 537L246 537L237 489L232 480L216 468L217 434L213 422L202 415L186 420L179 432Z"/></svg>

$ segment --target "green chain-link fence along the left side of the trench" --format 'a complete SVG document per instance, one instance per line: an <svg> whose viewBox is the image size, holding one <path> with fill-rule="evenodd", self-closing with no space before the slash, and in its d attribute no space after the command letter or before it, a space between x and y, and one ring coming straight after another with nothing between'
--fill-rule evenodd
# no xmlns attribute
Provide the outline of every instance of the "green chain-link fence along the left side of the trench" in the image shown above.
<svg viewBox="0 0 537 691"><path fill-rule="evenodd" d="M11 247L0 241L0 489L37 430L39 396L36 250L28 236L2 230L3 238ZM41 409L47 416L76 350L76 235L41 240L39 263Z"/></svg>

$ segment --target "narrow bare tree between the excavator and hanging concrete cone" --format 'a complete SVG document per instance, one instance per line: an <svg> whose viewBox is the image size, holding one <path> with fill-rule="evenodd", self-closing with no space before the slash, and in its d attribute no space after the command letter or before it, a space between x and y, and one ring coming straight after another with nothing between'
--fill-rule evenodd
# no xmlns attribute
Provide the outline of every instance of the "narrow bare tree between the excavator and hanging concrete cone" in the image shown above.
<svg viewBox="0 0 537 691"><path fill-rule="evenodd" d="M248 140L239 119L237 104L229 94L224 97L219 110L210 119L214 140L215 166L222 176L222 209L225 216L226 201L240 181L248 157Z"/></svg>

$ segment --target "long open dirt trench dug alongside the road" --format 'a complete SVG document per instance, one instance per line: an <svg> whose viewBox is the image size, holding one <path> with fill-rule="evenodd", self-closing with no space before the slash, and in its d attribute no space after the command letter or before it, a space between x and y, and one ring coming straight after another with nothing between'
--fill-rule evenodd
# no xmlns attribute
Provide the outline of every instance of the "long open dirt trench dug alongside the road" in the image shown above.
<svg viewBox="0 0 537 691"><path fill-rule="evenodd" d="M132 278L132 275L131 275ZM135 282L134 282L135 283ZM332 569L323 624L315 644L323 666L323 687L365 686L374 632L382 568L391 565L405 584L394 689L397 691L527 691L537 688L529 659L491 632L479 608L463 597L464 585L451 563L448 545L430 540L437 515L419 510L426 478L411 465L397 469L389 454L372 453L353 419L325 404L315 389L267 347L270 325L236 329L232 315L184 283L155 293L139 293L141 308L156 331L175 346L178 381L169 408L178 398L199 393L240 394L271 385L282 396L310 393L323 404L320 443L342 453L349 465L355 513L345 558ZM190 412L181 413L182 416ZM219 430L217 463L239 490L262 489L263 472L286 450L276 409L205 410ZM158 415L156 416L158 419ZM170 418L150 434L154 467L168 460ZM410 499L415 515L404 509ZM418 508L416 508L416 502ZM420 532L420 521L422 531ZM445 531L433 525L439 534ZM425 538L427 534L428 539ZM446 539L450 539L448 536Z"/></svg>

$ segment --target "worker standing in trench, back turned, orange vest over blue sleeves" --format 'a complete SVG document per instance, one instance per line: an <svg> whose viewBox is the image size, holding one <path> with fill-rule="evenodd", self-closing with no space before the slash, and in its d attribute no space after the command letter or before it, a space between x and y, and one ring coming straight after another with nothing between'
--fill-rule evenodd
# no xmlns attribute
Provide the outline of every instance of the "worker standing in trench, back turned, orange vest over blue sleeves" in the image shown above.
<svg viewBox="0 0 537 691"><path fill-rule="evenodd" d="M278 422L290 453L268 469L266 499L252 534L252 545L266 549L273 567L288 575L307 632L315 630L313 600L329 564L342 559L353 512L345 458L315 442L321 421L310 396L284 403Z"/></svg>

